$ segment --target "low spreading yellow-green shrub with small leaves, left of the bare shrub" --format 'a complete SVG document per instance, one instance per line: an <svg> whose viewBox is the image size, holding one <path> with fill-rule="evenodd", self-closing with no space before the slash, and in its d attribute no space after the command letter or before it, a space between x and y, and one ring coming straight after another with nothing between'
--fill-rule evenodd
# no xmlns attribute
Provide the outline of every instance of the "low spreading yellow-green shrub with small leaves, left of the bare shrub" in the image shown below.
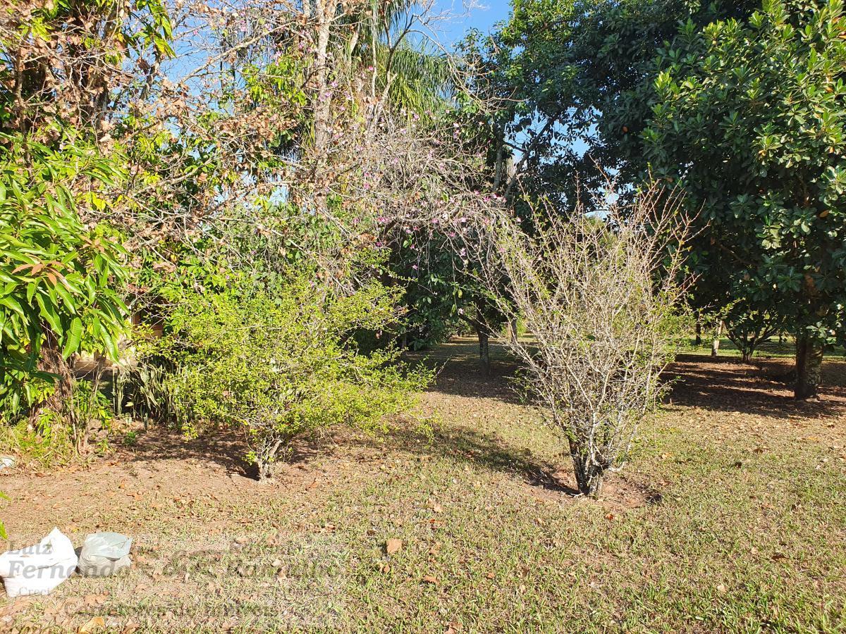
<svg viewBox="0 0 846 634"><path fill-rule="evenodd" d="M362 354L354 340L393 323L396 300L375 282L333 298L305 276L186 292L172 317L173 393L186 418L243 429L248 460L272 478L295 436L376 425L413 405L431 374L398 363L392 347Z"/></svg>

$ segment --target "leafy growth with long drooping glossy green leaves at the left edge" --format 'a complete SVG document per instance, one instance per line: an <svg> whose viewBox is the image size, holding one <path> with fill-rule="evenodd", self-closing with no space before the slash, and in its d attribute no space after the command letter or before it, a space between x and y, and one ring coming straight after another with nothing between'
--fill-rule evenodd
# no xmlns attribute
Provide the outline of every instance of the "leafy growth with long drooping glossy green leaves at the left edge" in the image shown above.
<svg viewBox="0 0 846 634"><path fill-rule="evenodd" d="M113 161L69 137L56 151L0 134L0 419L55 395L70 397L67 359L118 357L126 308L123 250L107 227L90 228L78 200L104 205L96 184L120 178ZM85 194L74 183L91 183Z"/></svg>

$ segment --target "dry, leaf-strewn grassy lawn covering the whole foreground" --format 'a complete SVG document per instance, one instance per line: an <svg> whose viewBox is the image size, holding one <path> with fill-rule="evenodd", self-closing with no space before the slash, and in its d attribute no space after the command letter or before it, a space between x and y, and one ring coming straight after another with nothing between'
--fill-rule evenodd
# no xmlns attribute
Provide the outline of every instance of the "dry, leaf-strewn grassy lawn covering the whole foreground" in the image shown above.
<svg viewBox="0 0 846 634"><path fill-rule="evenodd" d="M0 593L0 631L846 631L842 358L800 405L768 378L783 359L684 355L600 501L571 494L562 440L503 358L490 380L471 340L432 360L430 434L310 439L274 484L226 435L158 429L89 467L0 477L13 545L117 530L136 561Z"/></svg>

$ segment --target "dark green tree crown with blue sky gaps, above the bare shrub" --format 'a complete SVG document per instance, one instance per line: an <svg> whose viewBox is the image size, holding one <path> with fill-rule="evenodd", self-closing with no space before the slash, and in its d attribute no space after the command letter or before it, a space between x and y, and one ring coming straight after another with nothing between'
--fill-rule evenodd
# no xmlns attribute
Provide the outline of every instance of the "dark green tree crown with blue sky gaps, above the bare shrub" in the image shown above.
<svg viewBox="0 0 846 634"><path fill-rule="evenodd" d="M645 170L640 132L655 101L654 60L679 22L743 18L750 0L514 0L490 39L473 38L488 90L508 104L495 122L516 151L514 178L564 209L577 189L613 172L635 183ZM578 177L578 178L576 178Z"/></svg>

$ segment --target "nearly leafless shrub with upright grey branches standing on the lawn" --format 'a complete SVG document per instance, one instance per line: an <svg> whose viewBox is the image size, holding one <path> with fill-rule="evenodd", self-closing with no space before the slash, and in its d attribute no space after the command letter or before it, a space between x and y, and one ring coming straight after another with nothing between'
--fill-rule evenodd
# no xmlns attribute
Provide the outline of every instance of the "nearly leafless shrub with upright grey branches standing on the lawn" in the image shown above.
<svg viewBox="0 0 846 634"><path fill-rule="evenodd" d="M486 274L499 308L530 333L503 338L525 365L523 386L563 429L579 490L595 497L662 396L689 224L661 189L601 202L592 214L538 215L532 235L501 222Z"/></svg>

